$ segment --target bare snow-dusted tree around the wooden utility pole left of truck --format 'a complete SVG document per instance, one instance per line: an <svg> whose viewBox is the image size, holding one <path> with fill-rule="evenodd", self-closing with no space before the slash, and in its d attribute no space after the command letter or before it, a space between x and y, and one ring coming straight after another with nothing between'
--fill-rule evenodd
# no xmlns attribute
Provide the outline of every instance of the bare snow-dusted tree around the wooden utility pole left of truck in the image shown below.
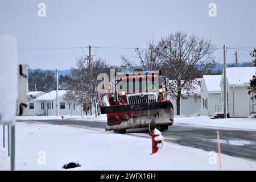
<svg viewBox="0 0 256 182"><path fill-rule="evenodd" d="M100 73L109 72L109 65L105 60L100 58L93 60L91 63L92 79L89 80L88 61L81 57L77 59L76 67L71 68L69 75L68 92L65 94L65 100L80 104L86 111L89 111L90 106L94 105L95 114L98 113L98 92L97 86L100 81L97 76ZM92 115L92 111L90 110Z"/></svg>

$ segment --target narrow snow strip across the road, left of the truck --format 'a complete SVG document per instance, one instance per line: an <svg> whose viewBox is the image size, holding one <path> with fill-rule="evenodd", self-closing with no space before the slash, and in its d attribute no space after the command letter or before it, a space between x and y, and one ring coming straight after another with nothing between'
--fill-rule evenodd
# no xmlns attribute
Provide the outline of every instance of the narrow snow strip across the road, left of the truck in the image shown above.
<svg viewBox="0 0 256 182"><path fill-rule="evenodd" d="M81 118L81 115L63 115L64 120L65 119L73 119L73 120L81 120L84 119L85 121L87 119L90 119L90 121L102 121L106 122L106 114L101 114L95 117L95 115L84 115L84 118ZM37 115L29 115L29 116L17 116L16 119L18 120L23 120L23 121L36 121L36 120L56 120L56 119L61 119L61 115L56 116L56 115L43 115L43 116L37 116Z"/></svg>

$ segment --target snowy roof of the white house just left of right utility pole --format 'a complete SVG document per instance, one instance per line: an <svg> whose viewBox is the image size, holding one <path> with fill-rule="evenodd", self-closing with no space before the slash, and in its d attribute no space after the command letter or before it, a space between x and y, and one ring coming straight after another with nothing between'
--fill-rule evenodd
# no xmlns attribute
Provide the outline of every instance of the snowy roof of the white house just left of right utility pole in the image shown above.
<svg viewBox="0 0 256 182"><path fill-rule="evenodd" d="M221 92L221 75L204 75L203 79L208 92Z"/></svg>

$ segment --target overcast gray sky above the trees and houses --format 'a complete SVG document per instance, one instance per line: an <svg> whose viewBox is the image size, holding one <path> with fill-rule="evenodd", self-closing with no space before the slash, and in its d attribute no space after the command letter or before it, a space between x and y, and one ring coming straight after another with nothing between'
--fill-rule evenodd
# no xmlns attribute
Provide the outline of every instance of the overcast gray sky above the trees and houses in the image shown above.
<svg viewBox="0 0 256 182"><path fill-rule="evenodd" d="M46 4L46 17L38 4ZM216 3L217 17L208 15ZM184 31L212 39L217 61L222 47L256 47L255 0L0 0L1 34L13 35L22 48L146 47L150 37L159 40ZM94 57L120 64L120 55L135 60L134 49L93 48ZM31 68L68 69L88 48L19 51L19 62ZM240 61L251 61L248 51L238 50ZM228 49L228 63L234 50Z"/></svg>

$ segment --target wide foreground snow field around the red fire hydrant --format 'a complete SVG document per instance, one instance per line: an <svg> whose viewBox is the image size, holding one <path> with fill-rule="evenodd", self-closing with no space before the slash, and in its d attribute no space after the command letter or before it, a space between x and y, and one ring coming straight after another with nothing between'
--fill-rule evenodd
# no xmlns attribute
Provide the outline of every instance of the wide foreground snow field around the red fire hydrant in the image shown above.
<svg viewBox="0 0 256 182"><path fill-rule="evenodd" d="M1 137L2 134L0 134L0 169L7 169L9 158L5 154L6 149L3 151L1 147ZM150 153L150 137L121 135L102 129L16 123L16 169L18 170L62 170L61 167L69 162L78 162L81 165L73 168L76 170L219 169L217 154L212 156L212 153L196 148L164 142L162 150L154 155ZM209 163L214 158L216 164ZM45 165L44 159L46 159ZM228 155L221 155L221 160L224 170L256 169L254 160Z"/></svg>

